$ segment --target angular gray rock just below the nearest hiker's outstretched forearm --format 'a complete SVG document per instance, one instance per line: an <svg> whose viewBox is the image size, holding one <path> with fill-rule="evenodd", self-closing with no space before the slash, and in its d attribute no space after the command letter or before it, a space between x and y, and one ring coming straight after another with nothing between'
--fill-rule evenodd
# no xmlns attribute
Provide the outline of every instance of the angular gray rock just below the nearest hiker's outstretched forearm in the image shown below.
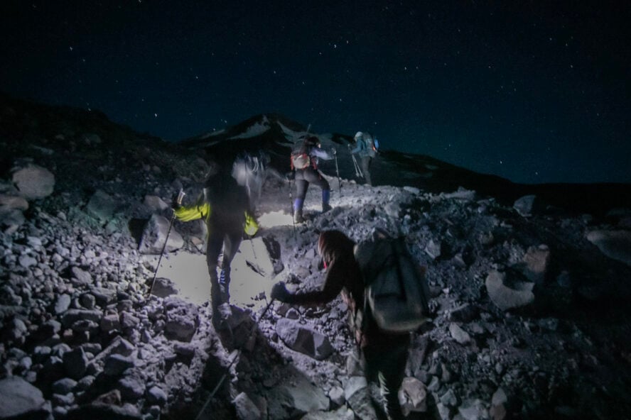
<svg viewBox="0 0 631 420"><path fill-rule="evenodd" d="M289 348L315 360L323 360L333 353L333 346L326 336L291 319L280 319L276 323L276 333Z"/></svg>

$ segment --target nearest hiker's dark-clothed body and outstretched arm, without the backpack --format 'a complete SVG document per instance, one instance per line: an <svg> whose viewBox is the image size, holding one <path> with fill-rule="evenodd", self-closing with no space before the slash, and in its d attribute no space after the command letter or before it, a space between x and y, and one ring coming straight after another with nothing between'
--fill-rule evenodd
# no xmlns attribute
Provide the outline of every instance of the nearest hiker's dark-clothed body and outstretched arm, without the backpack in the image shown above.
<svg viewBox="0 0 631 420"><path fill-rule="evenodd" d="M365 376L369 381L379 382L386 397L388 419L403 419L398 392L404 378L410 335L384 333L370 313L365 313L365 286L353 255L354 245L355 242L340 231L320 233L318 253L327 267L323 288L292 294L279 282L274 284L271 298L288 304L318 305L332 301L341 292L348 306L351 331L360 349Z"/></svg>

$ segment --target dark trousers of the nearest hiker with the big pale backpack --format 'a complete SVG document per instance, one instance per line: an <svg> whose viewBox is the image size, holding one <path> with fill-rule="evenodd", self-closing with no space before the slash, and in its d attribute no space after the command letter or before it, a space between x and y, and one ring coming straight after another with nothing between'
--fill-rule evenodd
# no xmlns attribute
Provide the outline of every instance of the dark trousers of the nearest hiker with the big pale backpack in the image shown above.
<svg viewBox="0 0 631 420"><path fill-rule="evenodd" d="M370 343L377 343L371 345ZM399 388L405 377L405 366L410 344L409 334L382 334L371 337L362 348L366 379L377 382L386 399L388 419L404 419L399 404Z"/></svg>

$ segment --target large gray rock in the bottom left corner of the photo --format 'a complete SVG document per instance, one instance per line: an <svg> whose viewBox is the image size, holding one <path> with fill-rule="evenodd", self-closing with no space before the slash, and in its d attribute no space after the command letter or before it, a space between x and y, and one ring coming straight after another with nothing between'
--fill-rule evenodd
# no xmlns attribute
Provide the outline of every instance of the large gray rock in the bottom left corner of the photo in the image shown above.
<svg viewBox="0 0 631 420"><path fill-rule="evenodd" d="M45 406L42 392L21 377L11 376L0 380L0 395L0 419L13 419L18 416L35 419L40 418L36 414L49 411Z"/></svg>

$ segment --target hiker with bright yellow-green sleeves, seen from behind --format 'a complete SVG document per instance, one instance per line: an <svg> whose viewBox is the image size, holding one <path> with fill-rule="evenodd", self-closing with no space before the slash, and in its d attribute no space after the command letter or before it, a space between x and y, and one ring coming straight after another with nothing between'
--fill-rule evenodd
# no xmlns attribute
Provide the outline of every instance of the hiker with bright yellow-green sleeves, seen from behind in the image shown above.
<svg viewBox="0 0 631 420"><path fill-rule="evenodd" d="M246 189L230 175L230 166L215 167L207 177L203 194L192 206L178 206L175 214L180 221L204 219L208 231L206 262L210 274L212 309L230 299L230 263L239 250L243 232L257 233ZM217 260L224 250L221 274L217 279Z"/></svg>

